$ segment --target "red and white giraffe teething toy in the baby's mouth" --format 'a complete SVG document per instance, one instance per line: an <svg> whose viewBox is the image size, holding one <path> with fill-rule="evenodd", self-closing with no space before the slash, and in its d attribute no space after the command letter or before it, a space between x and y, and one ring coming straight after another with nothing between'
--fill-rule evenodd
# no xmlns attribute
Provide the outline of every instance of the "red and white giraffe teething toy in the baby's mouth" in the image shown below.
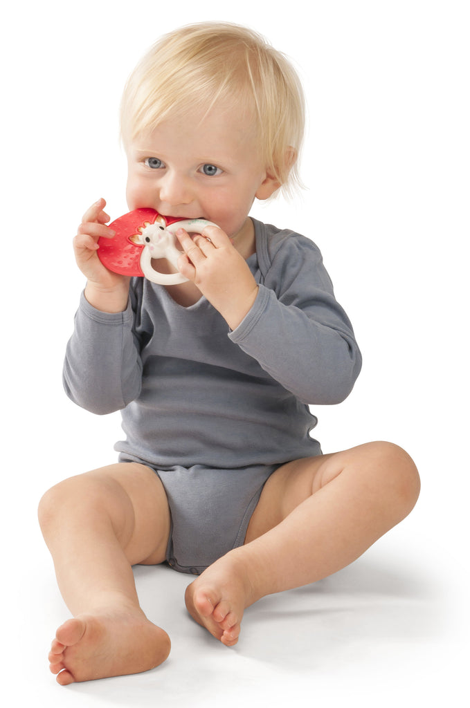
<svg viewBox="0 0 470 708"><path fill-rule="evenodd" d="M152 267L152 259L167 258L177 268L181 256L175 246L177 229L201 234L206 226L213 225L206 219L162 217L155 209L135 209L109 224L116 236L98 240L98 256L113 273L147 278L160 285L177 285L188 279L181 273L160 273Z"/></svg>

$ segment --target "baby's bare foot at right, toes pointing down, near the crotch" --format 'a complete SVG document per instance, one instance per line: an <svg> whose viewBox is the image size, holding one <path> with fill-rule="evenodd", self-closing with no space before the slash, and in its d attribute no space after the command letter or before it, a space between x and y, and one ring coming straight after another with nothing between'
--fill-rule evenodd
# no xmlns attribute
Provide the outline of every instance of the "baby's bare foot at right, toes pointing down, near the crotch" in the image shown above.
<svg viewBox="0 0 470 708"><path fill-rule="evenodd" d="M193 619L226 646L237 644L245 607L254 602L245 566L230 552L209 566L186 588Z"/></svg>

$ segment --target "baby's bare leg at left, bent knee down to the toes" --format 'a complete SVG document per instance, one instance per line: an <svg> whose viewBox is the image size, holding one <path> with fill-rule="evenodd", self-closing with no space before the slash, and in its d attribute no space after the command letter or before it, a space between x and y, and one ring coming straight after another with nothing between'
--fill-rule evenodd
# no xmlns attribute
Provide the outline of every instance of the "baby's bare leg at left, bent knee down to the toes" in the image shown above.
<svg viewBox="0 0 470 708"><path fill-rule="evenodd" d="M67 685L139 673L169 654L169 637L140 609L131 565L164 561L169 508L141 464L113 464L45 493L40 526L74 619L57 629L50 670Z"/></svg>

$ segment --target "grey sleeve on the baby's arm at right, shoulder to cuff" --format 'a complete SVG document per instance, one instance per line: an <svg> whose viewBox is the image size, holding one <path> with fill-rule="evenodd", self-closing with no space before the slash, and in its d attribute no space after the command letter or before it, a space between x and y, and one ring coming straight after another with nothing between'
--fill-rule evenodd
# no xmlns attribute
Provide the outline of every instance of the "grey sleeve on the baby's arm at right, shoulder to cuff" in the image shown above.
<svg viewBox="0 0 470 708"><path fill-rule="evenodd" d="M351 323L315 244L292 232L270 238L257 241L259 293L230 339L303 403L340 403L362 365Z"/></svg>

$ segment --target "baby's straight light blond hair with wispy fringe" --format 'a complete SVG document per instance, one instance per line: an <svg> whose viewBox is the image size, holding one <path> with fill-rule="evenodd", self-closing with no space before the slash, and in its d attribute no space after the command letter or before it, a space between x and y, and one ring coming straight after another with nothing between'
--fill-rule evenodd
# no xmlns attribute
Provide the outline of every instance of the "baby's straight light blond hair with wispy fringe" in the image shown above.
<svg viewBox="0 0 470 708"><path fill-rule="evenodd" d="M264 165L286 193L300 185L301 81L284 54L232 23L188 25L151 47L124 89L123 144L174 116L206 115L216 103L254 120Z"/></svg>

